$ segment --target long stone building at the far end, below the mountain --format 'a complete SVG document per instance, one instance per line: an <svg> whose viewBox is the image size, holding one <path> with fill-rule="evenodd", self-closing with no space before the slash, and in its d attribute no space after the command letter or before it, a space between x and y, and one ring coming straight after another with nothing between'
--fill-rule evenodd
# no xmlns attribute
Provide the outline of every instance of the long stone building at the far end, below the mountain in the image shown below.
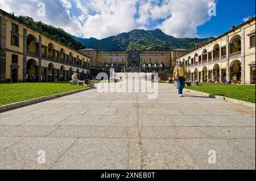
<svg viewBox="0 0 256 181"><path fill-rule="evenodd" d="M176 66L176 61L172 58L173 52L140 52L135 48L125 52L98 52L91 48L79 51L87 56L92 56L92 66L104 70L115 68L115 71L126 71L130 68L139 68L144 72L172 71ZM180 52L187 51L180 50Z"/></svg>

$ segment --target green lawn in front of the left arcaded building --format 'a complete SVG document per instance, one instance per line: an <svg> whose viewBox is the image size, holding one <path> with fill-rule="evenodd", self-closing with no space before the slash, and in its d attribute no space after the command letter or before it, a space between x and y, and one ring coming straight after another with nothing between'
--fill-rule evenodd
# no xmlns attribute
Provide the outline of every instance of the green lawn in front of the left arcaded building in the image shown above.
<svg viewBox="0 0 256 181"><path fill-rule="evenodd" d="M67 82L0 83L0 106L83 88Z"/></svg>

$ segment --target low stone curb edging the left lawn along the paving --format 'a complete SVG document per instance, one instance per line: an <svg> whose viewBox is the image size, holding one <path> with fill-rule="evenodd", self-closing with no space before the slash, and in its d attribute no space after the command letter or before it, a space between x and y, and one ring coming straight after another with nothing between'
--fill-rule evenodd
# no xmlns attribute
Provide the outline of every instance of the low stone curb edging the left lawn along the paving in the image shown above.
<svg viewBox="0 0 256 181"><path fill-rule="evenodd" d="M60 93L60 94L44 96L42 98L24 100L24 101L18 102L18 103L7 104L7 105L4 105L4 106L0 106L0 112L13 110L13 109L20 108L20 107L23 107L23 106L29 106L29 105L32 105L32 104L44 102L46 100L60 98L60 97L66 96L66 95L76 94L78 92L82 92L82 91L86 91L86 90L90 90L90 89L92 89L92 87L87 87L85 89L79 89L79 90L74 90L74 91L69 91L69 92L63 92L63 93Z"/></svg>

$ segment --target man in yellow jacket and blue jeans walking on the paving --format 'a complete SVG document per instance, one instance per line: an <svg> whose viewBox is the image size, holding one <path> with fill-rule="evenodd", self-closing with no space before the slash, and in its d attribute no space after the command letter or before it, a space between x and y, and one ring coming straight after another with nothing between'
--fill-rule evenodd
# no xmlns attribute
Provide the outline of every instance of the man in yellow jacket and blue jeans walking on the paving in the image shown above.
<svg viewBox="0 0 256 181"><path fill-rule="evenodd" d="M181 61L177 62L177 66L174 68L173 80L177 81L179 96L183 96L183 89L186 84L187 68L182 65Z"/></svg>

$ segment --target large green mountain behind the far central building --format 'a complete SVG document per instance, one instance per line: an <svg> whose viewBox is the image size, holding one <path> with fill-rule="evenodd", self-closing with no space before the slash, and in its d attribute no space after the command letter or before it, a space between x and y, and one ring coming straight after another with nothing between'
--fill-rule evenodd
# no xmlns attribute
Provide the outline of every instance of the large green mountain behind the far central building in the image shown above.
<svg viewBox="0 0 256 181"><path fill-rule="evenodd" d="M74 36L75 37L75 36ZM183 48L191 50L196 45L201 45L209 41L207 39L190 39L190 38L176 38L166 35L159 29L156 30L133 30L127 33L121 33L117 36L110 36L102 40L94 38L82 39L75 37L81 41L86 48L97 49L98 51L125 51L132 47L141 51L170 51L175 48Z"/></svg>

